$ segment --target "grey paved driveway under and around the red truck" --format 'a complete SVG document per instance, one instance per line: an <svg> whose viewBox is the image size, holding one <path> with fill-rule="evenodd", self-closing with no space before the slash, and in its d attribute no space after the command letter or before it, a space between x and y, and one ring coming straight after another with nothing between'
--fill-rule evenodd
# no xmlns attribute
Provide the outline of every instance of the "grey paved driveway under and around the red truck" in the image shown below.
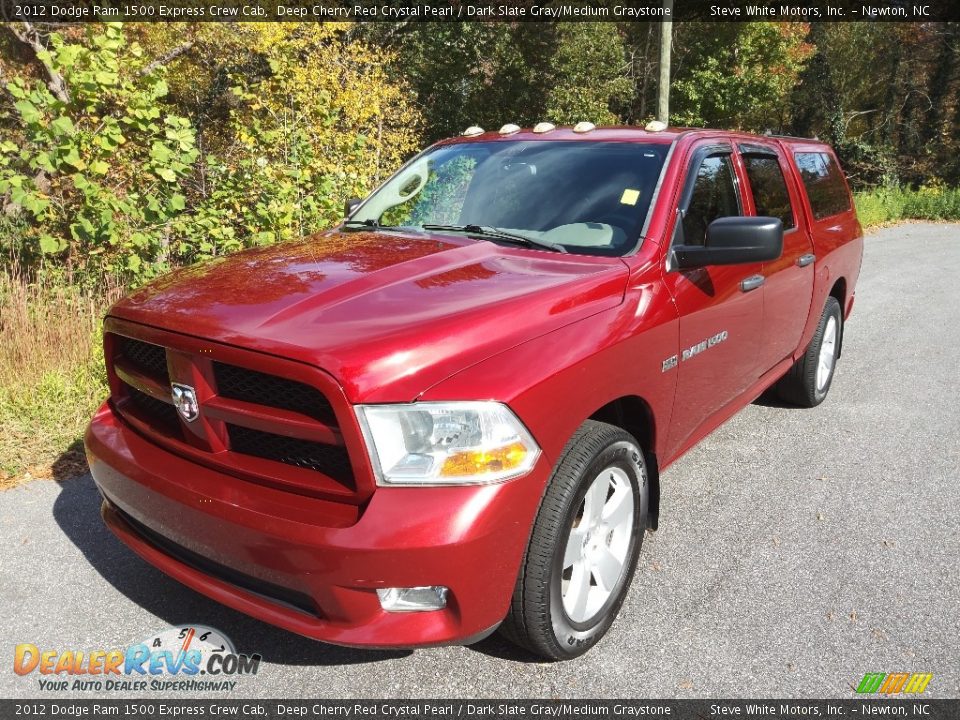
<svg viewBox="0 0 960 720"><path fill-rule="evenodd" d="M0 695L16 643L111 649L180 623L262 654L234 697L851 697L865 672L960 696L960 226L871 234L828 400L761 399L663 477L619 619L546 664L494 636L323 645L168 579L104 528L89 476L0 493ZM91 695L79 693L80 696ZM56 697L63 697L57 695Z"/></svg>

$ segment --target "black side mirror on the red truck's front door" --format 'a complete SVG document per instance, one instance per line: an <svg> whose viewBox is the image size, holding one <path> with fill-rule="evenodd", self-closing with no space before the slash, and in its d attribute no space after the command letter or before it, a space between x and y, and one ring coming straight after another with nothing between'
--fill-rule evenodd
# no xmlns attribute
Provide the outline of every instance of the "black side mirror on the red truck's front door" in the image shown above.
<svg viewBox="0 0 960 720"><path fill-rule="evenodd" d="M678 268L776 260L783 253L783 223L774 217L731 216L707 226L706 242L677 245L673 254Z"/></svg>

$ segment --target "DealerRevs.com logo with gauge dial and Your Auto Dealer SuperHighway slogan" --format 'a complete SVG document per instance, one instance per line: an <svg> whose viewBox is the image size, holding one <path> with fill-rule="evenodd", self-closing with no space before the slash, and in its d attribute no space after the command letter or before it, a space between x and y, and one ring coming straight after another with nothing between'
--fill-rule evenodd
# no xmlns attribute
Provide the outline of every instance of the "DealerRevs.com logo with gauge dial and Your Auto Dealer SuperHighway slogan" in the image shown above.
<svg viewBox="0 0 960 720"><path fill-rule="evenodd" d="M21 643L13 671L34 676L45 692L232 691L238 676L256 675L260 655L242 655L204 625L172 627L124 650L43 650Z"/></svg>

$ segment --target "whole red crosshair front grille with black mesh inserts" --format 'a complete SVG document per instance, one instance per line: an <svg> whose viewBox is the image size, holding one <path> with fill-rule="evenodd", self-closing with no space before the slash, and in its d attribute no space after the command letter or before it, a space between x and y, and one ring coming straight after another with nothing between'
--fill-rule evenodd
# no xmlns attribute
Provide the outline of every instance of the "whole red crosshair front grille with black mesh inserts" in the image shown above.
<svg viewBox="0 0 960 720"><path fill-rule="evenodd" d="M117 390L114 407L148 439L253 481L275 483L283 473L281 467L271 468L252 459L260 458L291 466L285 487L296 491L335 493L339 497L345 490L359 492L337 415L328 396L319 389L325 387L323 380L318 380L318 386L290 380L283 370L292 363L276 359L266 361L265 366L272 371L266 373L223 362L216 355L210 358L205 355L210 352L206 348L191 352L177 345L175 339L168 347L156 339L164 333L151 336L154 342L144 342L110 329L108 332L114 333L108 344L113 349L111 360L118 364L122 361L130 371L128 375L116 372L119 368L109 369L111 385ZM170 372L168 352L178 358ZM143 377L133 377L135 374ZM172 399L167 400L171 382L199 391L200 417L195 422L186 423ZM208 400L209 411L205 409ZM250 413L251 408L242 406L241 401L258 406L256 413ZM290 417L288 413L302 417ZM324 441L296 437L305 430L312 430L308 437Z"/></svg>

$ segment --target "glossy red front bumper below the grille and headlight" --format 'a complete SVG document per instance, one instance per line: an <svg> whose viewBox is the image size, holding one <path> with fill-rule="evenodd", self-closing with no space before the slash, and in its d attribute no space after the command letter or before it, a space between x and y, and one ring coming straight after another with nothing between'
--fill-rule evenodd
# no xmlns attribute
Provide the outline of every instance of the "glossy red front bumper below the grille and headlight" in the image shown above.
<svg viewBox="0 0 960 720"><path fill-rule="evenodd" d="M86 434L103 518L147 562L265 622L341 645L469 642L504 618L547 480L379 488L363 508L243 480L133 431L105 403ZM384 612L376 589L443 585L447 607Z"/></svg>

